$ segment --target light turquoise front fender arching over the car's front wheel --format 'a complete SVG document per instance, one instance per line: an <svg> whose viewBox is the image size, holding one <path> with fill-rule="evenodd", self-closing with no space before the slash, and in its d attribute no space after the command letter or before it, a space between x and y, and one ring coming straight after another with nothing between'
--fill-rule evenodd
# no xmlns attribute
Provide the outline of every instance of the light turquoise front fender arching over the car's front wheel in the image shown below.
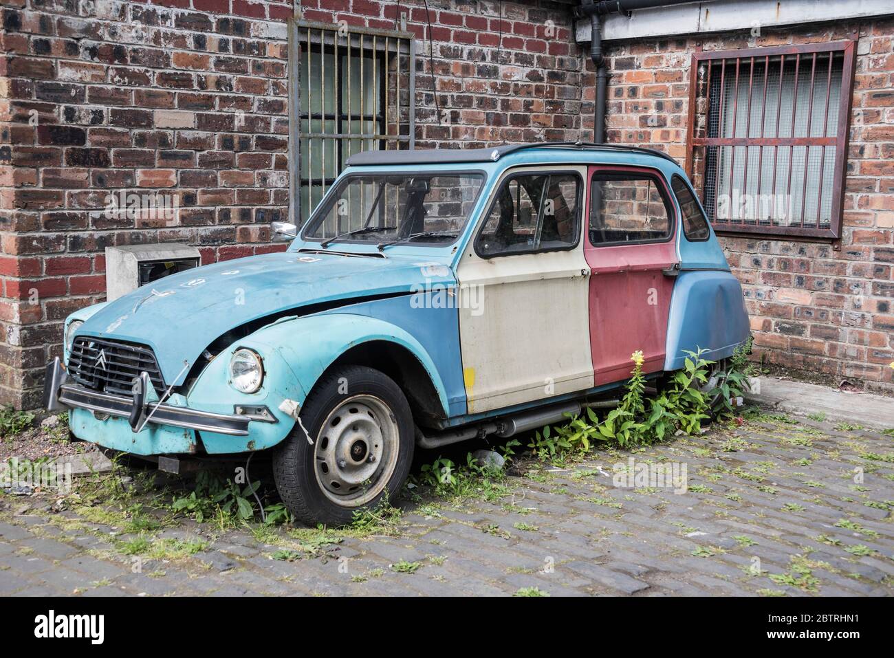
<svg viewBox="0 0 894 658"><path fill-rule="evenodd" d="M198 377L188 396L190 407L222 413L232 413L234 404L265 405L279 422L252 422L247 437L202 432L206 451L215 454L262 450L283 441L295 425L284 409L290 405L300 408L327 367L350 348L370 341L392 342L409 350L426 369L447 413L447 396L434 361L401 327L346 312L286 317L223 350ZM228 382L232 352L240 347L255 350L264 359L264 384L258 392L240 393Z"/></svg>

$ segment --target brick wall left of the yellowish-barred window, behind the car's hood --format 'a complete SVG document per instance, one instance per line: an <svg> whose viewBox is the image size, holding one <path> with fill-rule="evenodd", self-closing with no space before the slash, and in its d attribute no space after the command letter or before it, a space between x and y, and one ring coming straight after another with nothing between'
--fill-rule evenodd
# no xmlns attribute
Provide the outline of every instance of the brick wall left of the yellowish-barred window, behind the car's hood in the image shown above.
<svg viewBox="0 0 894 658"><path fill-rule="evenodd" d="M288 209L291 2L5 0L0 34L0 404L36 407L62 320L103 297L108 245L206 261ZM177 195L174 221L105 217L111 191ZM276 247L279 249L279 247Z"/></svg>

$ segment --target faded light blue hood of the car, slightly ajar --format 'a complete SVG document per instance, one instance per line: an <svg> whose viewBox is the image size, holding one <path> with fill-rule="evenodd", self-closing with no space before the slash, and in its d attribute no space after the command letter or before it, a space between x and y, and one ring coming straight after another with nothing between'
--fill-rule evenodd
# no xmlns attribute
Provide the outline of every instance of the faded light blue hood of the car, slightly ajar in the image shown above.
<svg viewBox="0 0 894 658"><path fill-rule="evenodd" d="M76 335L139 342L166 384L181 384L216 338L253 320L311 304L451 284L446 261L286 251L228 260L159 279L107 304Z"/></svg>

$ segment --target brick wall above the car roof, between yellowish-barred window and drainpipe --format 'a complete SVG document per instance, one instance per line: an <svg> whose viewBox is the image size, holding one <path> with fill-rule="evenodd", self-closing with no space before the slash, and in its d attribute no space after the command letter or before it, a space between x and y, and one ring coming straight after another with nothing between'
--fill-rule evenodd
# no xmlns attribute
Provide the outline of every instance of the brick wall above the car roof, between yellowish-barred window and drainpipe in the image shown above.
<svg viewBox="0 0 894 658"><path fill-rule="evenodd" d="M417 38L417 148L579 137L581 49L569 5L428 0L426 13L422 0L352 0L350 11L348 0L300 4L308 21L390 30L400 8Z"/></svg>

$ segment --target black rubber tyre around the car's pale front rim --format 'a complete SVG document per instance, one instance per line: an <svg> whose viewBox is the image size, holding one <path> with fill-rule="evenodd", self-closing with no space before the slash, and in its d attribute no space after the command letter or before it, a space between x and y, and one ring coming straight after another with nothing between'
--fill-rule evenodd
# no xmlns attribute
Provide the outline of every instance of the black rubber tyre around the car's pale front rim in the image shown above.
<svg viewBox="0 0 894 658"><path fill-rule="evenodd" d="M328 437L321 431L327 418L342 409L342 405L346 402L357 400L358 396L366 396L366 398L360 399L374 398L390 409L391 423L388 423L387 420L385 423L392 430L396 428L397 436L396 440L392 439L389 443L394 447L393 451L388 452L389 463L381 467L384 470L378 477L370 478L375 479L369 485L374 490L381 487L382 480L385 480L381 491L376 493L374 498L365 502L354 504L345 498L340 504L333 501L333 498L338 498L337 493L332 490L327 493L325 485L320 480L321 477L327 476L321 468L322 458L317 459L316 446L319 444L322 449L322 446L328 444ZM368 413L368 415L375 418L372 413ZM301 408L299 416L301 422L296 423L291 434L274 449L276 489L286 507L297 519L310 526L323 523L327 526L340 527L349 524L357 510L374 508L384 500L386 495L390 502L396 499L409 476L409 468L413 461L415 432L407 398L390 377L370 367L345 366L337 368L324 375L316 383ZM333 420L337 419L338 417L330 420L333 427L337 424ZM304 428L307 428L313 444L308 442L308 434L305 434ZM347 432L347 429L342 428L341 432ZM391 434L394 433L391 432ZM333 441L335 440L333 439ZM341 441L350 443L350 439ZM338 443L338 445L343 444ZM336 448L333 447L332 450L334 452ZM371 449L368 454L372 455ZM385 459L382 459L380 463L384 461ZM368 457L366 460L358 462L361 465L358 468L366 468L363 465L367 463L372 463ZM391 473L386 475L385 471L391 465ZM351 466L353 467L354 464L352 463ZM358 492L356 495L369 495L370 493L372 491L367 490L366 493Z"/></svg>

